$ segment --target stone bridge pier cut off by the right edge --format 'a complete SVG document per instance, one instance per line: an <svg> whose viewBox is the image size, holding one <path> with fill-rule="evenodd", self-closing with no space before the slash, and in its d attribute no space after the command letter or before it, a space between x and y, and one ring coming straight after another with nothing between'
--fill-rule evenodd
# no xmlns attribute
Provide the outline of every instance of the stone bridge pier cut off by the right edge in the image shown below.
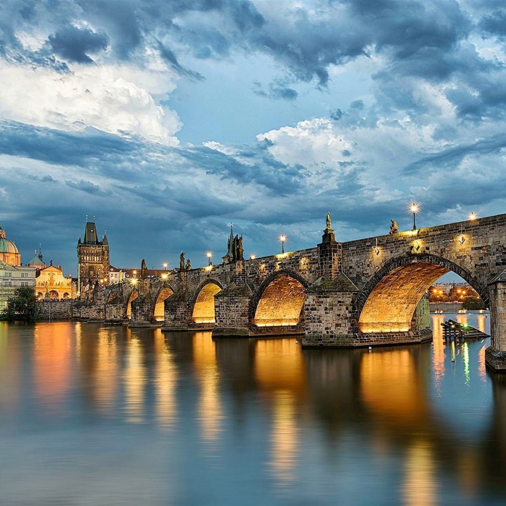
<svg viewBox="0 0 506 506"><path fill-rule="evenodd" d="M506 372L506 270L489 283L490 346L485 362L496 372Z"/></svg>

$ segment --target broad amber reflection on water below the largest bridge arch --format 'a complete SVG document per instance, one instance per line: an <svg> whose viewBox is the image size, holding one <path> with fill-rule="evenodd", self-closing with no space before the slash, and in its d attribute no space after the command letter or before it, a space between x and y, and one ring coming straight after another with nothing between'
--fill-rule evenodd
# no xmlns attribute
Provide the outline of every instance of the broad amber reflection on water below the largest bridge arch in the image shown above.
<svg viewBox="0 0 506 506"><path fill-rule="evenodd" d="M424 386L408 350L362 355L360 386L364 403L394 423L422 423L428 412Z"/></svg>

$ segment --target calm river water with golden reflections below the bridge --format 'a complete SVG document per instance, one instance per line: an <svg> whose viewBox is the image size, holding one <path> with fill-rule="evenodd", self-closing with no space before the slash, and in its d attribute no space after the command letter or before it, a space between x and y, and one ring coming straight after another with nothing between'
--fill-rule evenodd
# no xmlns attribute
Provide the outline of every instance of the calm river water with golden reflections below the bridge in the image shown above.
<svg viewBox="0 0 506 506"><path fill-rule="evenodd" d="M0 322L0 504L504 504L506 379L445 317L371 351Z"/></svg>

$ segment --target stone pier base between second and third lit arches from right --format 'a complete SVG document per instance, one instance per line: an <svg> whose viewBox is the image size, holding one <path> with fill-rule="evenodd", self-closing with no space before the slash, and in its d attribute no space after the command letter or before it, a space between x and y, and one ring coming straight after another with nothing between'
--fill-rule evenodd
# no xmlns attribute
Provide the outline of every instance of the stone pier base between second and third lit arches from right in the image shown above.
<svg viewBox="0 0 506 506"><path fill-rule="evenodd" d="M249 301L252 292L248 285L231 283L215 295L215 328L213 337L249 335Z"/></svg>

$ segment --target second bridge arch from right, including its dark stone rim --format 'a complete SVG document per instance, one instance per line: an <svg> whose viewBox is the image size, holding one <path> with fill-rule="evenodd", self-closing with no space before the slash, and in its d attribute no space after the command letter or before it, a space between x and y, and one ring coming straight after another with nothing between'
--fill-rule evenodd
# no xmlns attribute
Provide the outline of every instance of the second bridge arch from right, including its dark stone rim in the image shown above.
<svg viewBox="0 0 506 506"><path fill-rule="evenodd" d="M269 274L249 303L249 321L258 327L297 325L308 282L296 271Z"/></svg>

